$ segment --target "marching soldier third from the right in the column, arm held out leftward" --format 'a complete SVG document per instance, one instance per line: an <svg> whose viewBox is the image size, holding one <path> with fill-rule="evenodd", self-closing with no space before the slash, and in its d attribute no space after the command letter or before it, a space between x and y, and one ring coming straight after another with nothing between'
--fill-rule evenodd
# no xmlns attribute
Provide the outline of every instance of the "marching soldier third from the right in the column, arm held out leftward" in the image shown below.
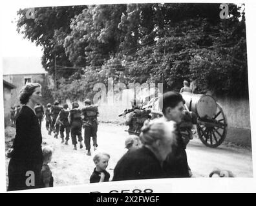
<svg viewBox="0 0 256 206"><path fill-rule="evenodd" d="M69 125L68 117L69 117L69 105L67 103L65 103L65 104L63 104L63 109L61 109L61 111L59 111L59 115L56 119L55 126L58 123L60 124L59 133L62 138L61 143L64 142L64 130L66 130L66 138L65 138L66 144L69 141L69 133L70 133L70 125Z"/></svg>

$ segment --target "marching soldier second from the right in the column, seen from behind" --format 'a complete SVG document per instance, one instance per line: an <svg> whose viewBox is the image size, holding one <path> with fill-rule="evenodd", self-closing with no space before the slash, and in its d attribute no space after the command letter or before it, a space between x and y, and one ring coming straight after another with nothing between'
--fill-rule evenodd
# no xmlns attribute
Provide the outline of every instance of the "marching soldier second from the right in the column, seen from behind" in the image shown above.
<svg viewBox="0 0 256 206"><path fill-rule="evenodd" d="M81 141L83 141L83 138L81 136L81 127L82 127L82 120L81 120L81 110L78 109L79 104L78 102L73 102L72 103L72 109L70 110L69 113L69 124L71 127L71 139L72 139L72 144L74 145L74 150L76 150L76 144L80 142L80 149L83 148L83 144ZM78 142L76 140L76 136L78 136ZM65 144L68 144L66 141Z"/></svg>

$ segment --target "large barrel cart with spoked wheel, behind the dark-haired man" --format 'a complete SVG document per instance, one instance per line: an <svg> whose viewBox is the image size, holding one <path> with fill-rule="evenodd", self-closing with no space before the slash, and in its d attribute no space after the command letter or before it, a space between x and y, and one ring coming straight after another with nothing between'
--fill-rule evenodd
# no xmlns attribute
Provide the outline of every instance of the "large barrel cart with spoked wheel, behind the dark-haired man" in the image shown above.
<svg viewBox="0 0 256 206"><path fill-rule="evenodd" d="M181 93L186 101L187 111L197 115L197 134L203 144L208 147L218 147L227 135L228 122L220 104L210 95ZM151 109L152 117L162 116L158 100L155 99Z"/></svg>

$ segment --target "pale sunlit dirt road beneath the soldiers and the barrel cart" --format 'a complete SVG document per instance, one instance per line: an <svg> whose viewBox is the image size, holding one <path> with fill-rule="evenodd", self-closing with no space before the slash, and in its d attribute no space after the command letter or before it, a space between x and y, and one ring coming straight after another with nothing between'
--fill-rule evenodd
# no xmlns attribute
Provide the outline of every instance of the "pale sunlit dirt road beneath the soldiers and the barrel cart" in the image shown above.
<svg viewBox="0 0 256 206"><path fill-rule="evenodd" d="M116 162L126 152L124 140L128 134L124 131L125 129L127 129L125 126L102 123L98 127L98 150L107 151L111 155L107 168L111 178ZM94 163L92 156L87 156L85 145L83 144L83 149L74 151L71 140L69 145L61 144L61 138L56 139L53 135L48 135L45 122L42 124L42 135L43 143L54 148L50 163L54 186L89 183ZM251 151L241 147L220 145L212 149L196 138L187 146L187 159L195 177L208 177L215 167L228 169L237 177L253 176ZM8 165L8 159L6 159L6 165Z"/></svg>

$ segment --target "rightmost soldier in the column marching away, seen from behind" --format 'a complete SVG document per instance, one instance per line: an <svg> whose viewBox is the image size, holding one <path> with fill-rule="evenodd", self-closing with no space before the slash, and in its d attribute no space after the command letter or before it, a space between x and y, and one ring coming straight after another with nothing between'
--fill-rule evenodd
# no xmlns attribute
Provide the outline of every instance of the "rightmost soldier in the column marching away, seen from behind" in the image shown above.
<svg viewBox="0 0 256 206"><path fill-rule="evenodd" d="M85 100L85 108L82 109L83 113L83 127L85 128L85 147L88 151L87 154L91 155L91 136L93 141L94 150L98 147L97 144L97 131L98 131L98 106L91 105L91 100Z"/></svg>

